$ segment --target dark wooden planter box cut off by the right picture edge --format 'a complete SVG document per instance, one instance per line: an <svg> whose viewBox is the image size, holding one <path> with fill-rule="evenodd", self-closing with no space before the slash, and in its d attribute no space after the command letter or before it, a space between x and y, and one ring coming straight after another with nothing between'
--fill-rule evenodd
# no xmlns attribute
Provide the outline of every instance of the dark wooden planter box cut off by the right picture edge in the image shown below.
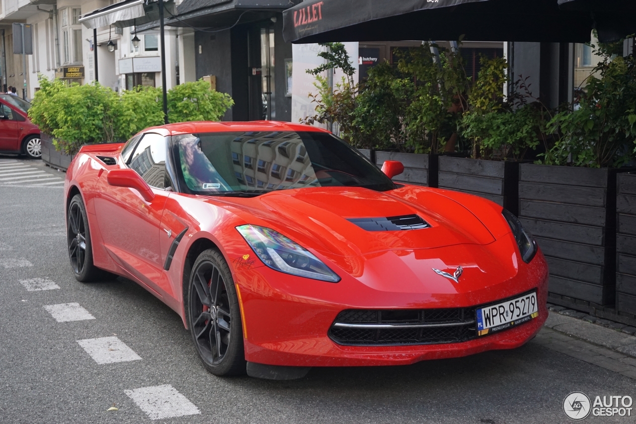
<svg viewBox="0 0 636 424"><path fill-rule="evenodd" d="M636 173L617 178L616 311L636 315Z"/></svg>

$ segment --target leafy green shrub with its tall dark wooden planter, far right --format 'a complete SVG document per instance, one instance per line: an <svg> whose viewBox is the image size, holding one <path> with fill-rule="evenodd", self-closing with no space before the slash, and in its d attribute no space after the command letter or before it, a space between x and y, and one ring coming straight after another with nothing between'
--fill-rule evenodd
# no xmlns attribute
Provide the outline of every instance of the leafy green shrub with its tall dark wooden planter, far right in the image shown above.
<svg viewBox="0 0 636 424"><path fill-rule="evenodd" d="M590 312L614 304L616 176L636 137L636 60L597 53L576 108L548 125L555 145L540 164L522 164L519 183L520 219L550 265L550 301Z"/></svg>

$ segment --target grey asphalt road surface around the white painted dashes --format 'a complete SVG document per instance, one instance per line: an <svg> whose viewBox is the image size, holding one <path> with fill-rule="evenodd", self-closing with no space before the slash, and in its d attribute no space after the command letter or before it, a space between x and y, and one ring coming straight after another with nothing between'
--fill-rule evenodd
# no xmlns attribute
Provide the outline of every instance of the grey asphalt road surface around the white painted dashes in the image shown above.
<svg viewBox="0 0 636 424"><path fill-rule="evenodd" d="M570 392L636 399L633 379L533 342L406 367L314 368L295 381L218 378L146 290L73 278L62 208L62 188L0 187L0 423L149 423L125 391L160 385L200 412L154 421L165 423L567 423ZM59 288L27 291L34 281ZM72 302L94 319L57 322L45 309ZM141 360L97 364L78 343L97 337Z"/></svg>

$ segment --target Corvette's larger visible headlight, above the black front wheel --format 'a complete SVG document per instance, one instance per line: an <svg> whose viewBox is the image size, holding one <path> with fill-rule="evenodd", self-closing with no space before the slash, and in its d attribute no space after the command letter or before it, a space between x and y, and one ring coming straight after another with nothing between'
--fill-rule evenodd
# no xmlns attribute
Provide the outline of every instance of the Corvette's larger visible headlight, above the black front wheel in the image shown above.
<svg viewBox="0 0 636 424"><path fill-rule="evenodd" d="M279 232L249 224L240 225L237 230L263 264L276 271L330 283L340 281L340 277L319 258Z"/></svg>

